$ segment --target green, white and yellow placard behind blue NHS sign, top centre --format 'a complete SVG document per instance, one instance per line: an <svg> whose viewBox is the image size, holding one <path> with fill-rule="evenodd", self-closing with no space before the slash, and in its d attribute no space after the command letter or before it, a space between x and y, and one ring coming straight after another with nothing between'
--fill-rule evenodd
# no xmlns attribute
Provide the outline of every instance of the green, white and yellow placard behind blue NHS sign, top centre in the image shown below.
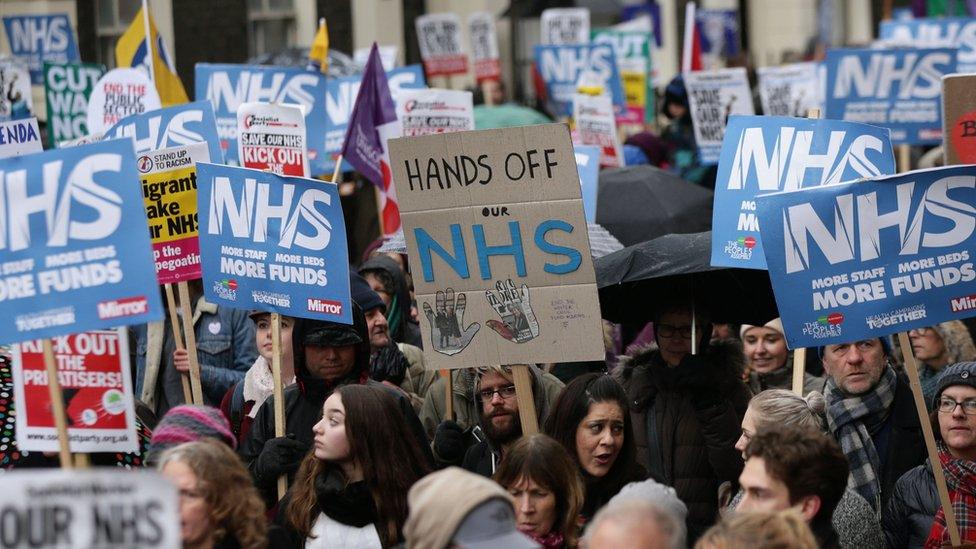
<svg viewBox="0 0 976 549"><path fill-rule="evenodd" d="M642 125L654 120L654 85L651 82L651 43L649 32L598 29L593 31L594 44L610 44L617 59L617 70L627 104L621 124Z"/></svg>

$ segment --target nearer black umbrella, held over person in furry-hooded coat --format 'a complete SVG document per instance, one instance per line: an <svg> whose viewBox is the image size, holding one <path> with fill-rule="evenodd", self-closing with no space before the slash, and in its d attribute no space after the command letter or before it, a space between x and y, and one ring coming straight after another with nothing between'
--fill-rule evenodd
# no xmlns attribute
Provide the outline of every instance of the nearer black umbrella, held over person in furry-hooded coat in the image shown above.
<svg viewBox="0 0 976 549"><path fill-rule="evenodd" d="M594 261L603 318L647 322L656 306L687 298L715 322L764 324L779 316L769 274L712 267L711 231L669 234Z"/></svg>

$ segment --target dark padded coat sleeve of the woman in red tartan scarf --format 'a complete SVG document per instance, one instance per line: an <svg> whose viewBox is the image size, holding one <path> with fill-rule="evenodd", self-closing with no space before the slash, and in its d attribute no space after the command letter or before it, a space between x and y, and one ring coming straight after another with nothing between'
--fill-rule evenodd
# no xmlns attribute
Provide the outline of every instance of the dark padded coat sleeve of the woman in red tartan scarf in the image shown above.
<svg viewBox="0 0 976 549"><path fill-rule="evenodd" d="M898 479L894 493L888 498L882 517L888 547L902 549L925 545L939 507L932 466L926 460L925 465L919 465Z"/></svg>

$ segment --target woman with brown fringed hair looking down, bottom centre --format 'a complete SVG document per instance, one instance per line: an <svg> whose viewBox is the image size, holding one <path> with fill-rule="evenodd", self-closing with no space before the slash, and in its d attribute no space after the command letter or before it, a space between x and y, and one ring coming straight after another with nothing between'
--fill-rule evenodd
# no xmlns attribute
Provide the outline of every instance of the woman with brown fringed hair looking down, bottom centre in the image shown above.
<svg viewBox="0 0 976 549"><path fill-rule="evenodd" d="M515 498L520 532L544 549L576 547L583 481L559 442L543 434L519 439L505 452L494 478Z"/></svg>

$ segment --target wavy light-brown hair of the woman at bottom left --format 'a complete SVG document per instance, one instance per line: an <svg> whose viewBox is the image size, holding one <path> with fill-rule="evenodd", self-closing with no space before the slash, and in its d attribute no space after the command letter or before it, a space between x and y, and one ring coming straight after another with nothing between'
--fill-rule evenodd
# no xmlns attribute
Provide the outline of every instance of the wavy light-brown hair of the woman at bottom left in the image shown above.
<svg viewBox="0 0 976 549"><path fill-rule="evenodd" d="M186 442L163 452L159 470L172 462L185 464L196 475L217 540L230 535L242 549L267 547L264 500L229 446L214 439Z"/></svg>

